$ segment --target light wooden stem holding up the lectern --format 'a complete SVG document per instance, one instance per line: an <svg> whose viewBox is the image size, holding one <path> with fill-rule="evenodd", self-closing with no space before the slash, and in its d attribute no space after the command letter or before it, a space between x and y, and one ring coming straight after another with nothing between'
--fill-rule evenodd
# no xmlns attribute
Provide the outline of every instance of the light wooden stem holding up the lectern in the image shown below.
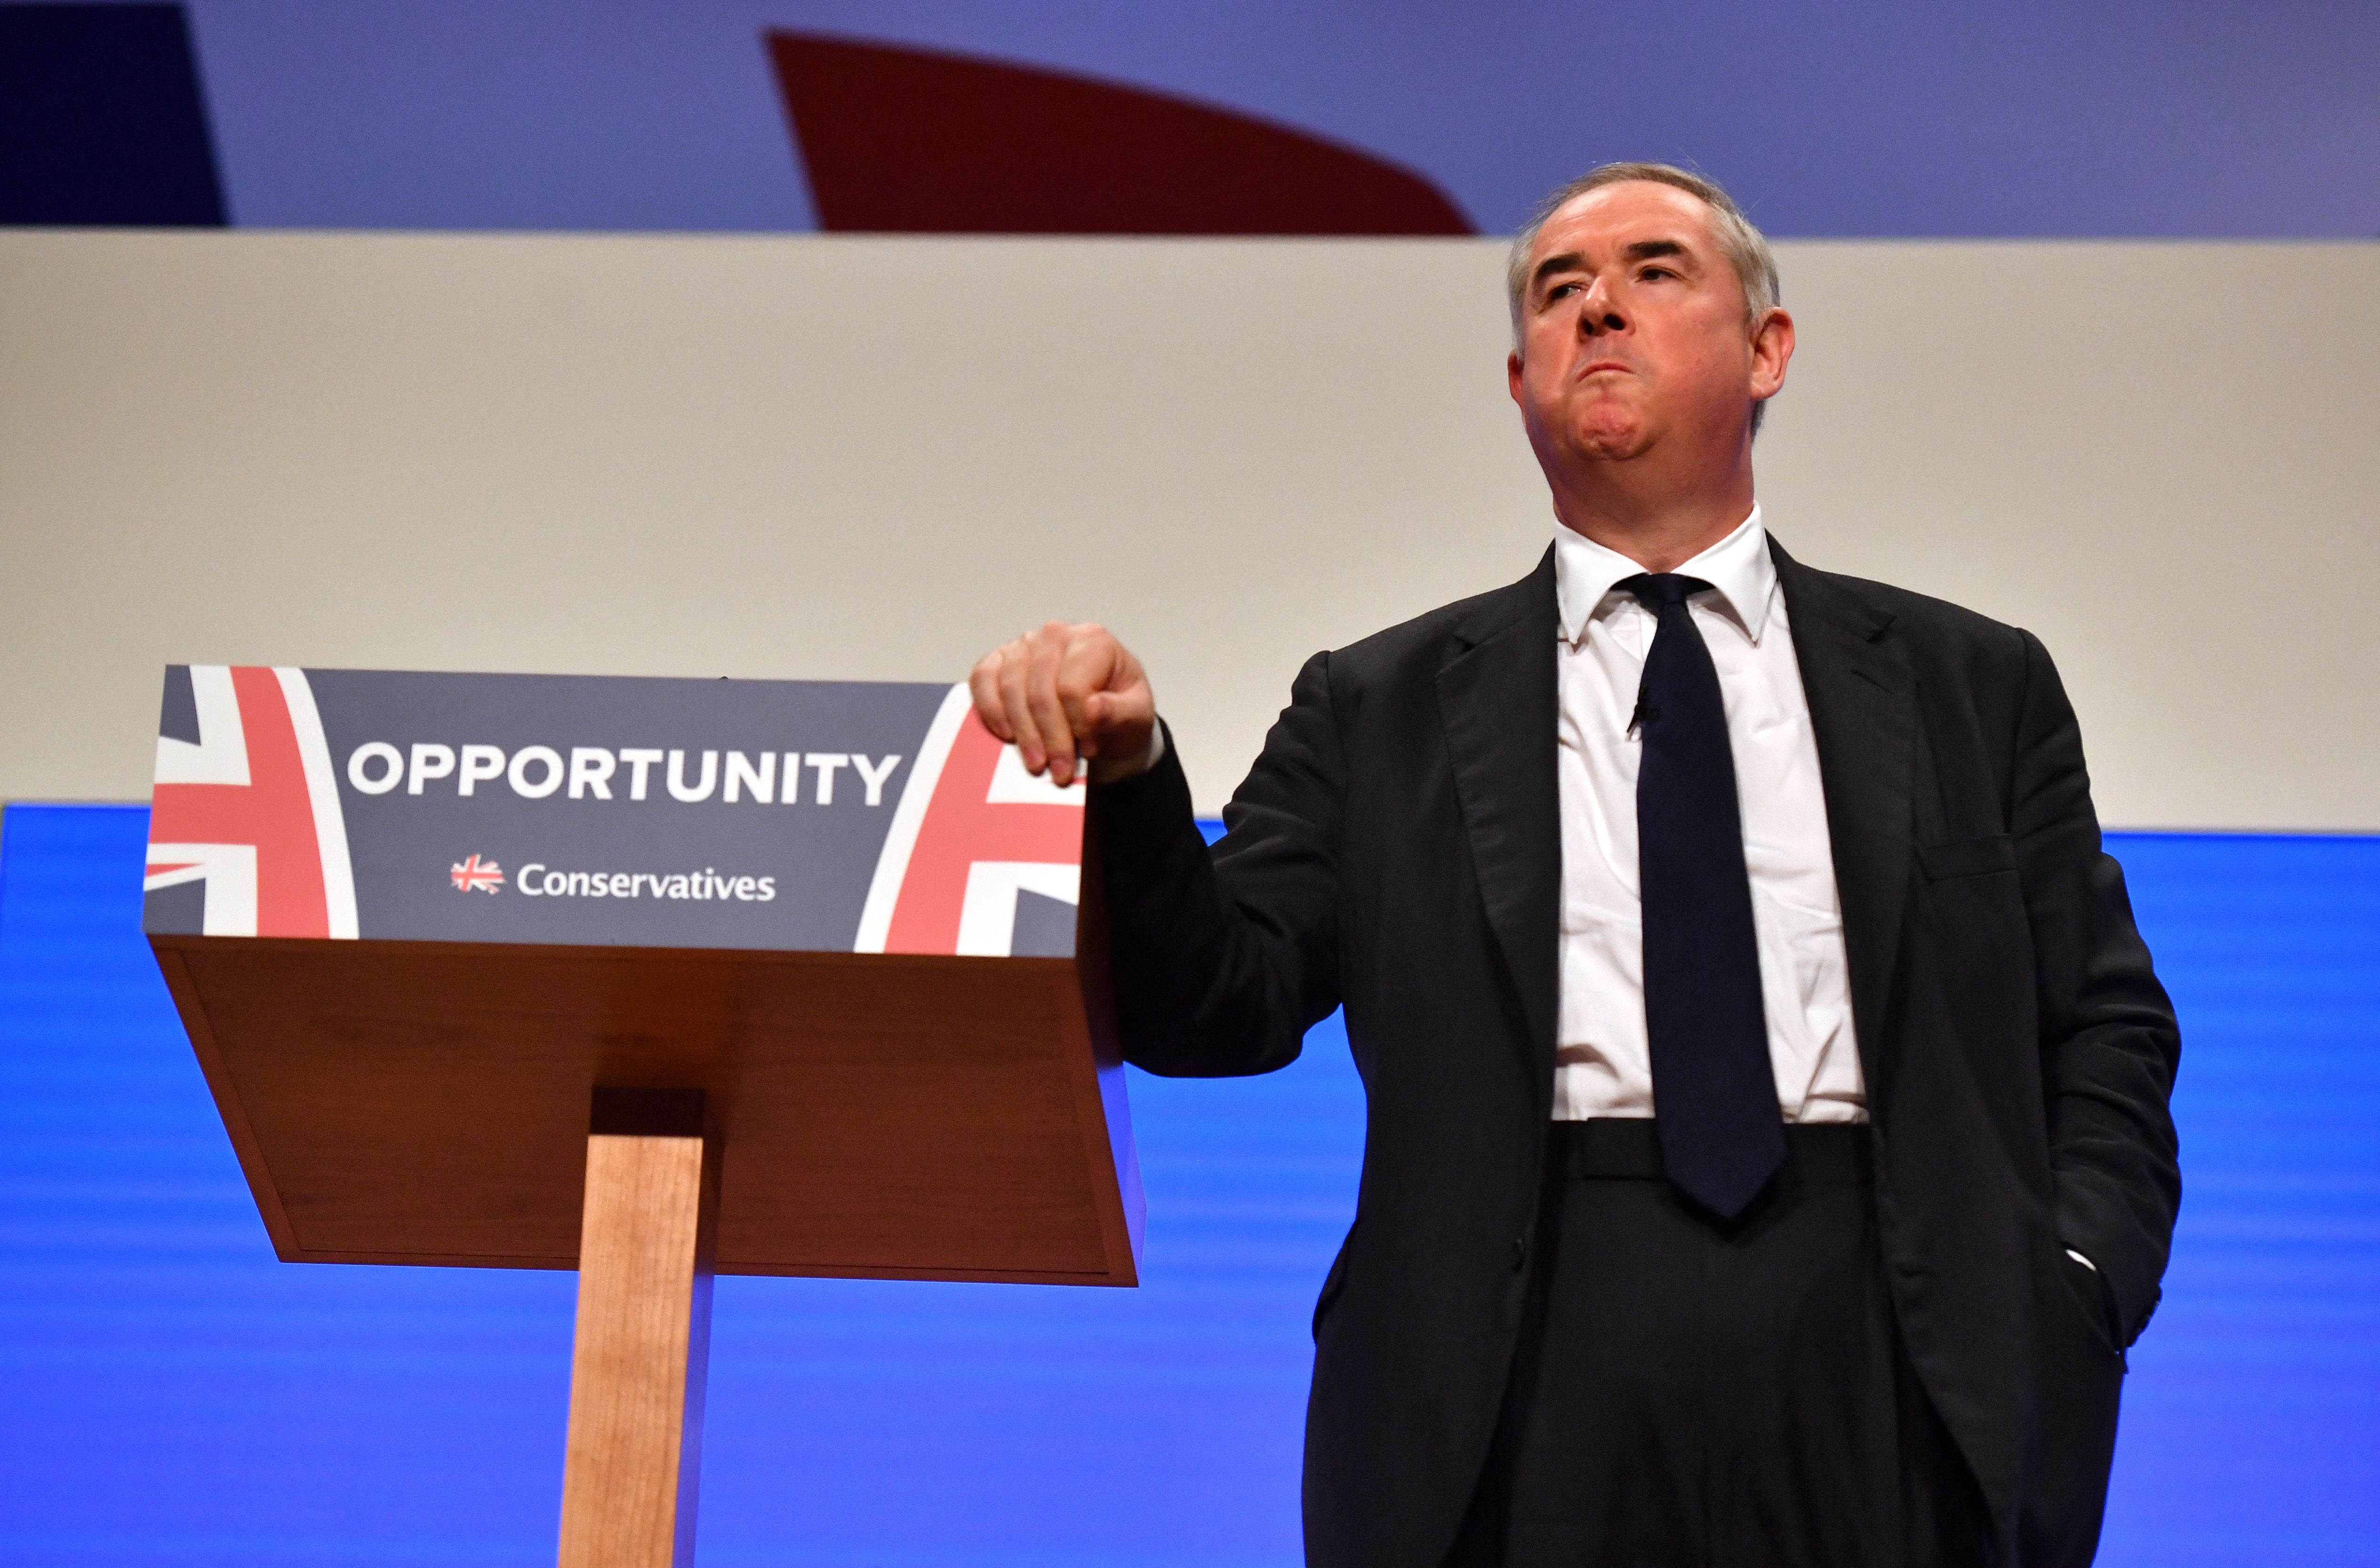
<svg viewBox="0 0 2380 1568"><path fill-rule="evenodd" d="M595 1090L562 1568L690 1568L719 1133L700 1090Z"/></svg>

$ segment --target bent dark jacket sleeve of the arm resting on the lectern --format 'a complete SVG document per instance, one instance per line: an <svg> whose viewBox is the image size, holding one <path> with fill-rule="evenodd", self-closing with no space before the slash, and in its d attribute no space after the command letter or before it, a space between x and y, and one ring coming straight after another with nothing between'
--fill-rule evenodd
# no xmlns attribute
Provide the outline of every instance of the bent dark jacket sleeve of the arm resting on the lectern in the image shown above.
<svg viewBox="0 0 2380 1568"><path fill-rule="evenodd" d="M1090 795L1123 1059L1166 1075L1269 1073L1338 1006L1345 764L1314 654L1209 852L1180 754Z"/></svg>

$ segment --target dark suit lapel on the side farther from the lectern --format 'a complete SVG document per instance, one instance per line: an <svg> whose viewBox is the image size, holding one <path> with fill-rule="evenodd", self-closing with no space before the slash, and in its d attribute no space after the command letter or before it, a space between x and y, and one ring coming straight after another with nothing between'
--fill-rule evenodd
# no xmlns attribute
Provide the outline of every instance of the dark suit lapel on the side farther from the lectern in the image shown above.
<svg viewBox="0 0 2380 1568"><path fill-rule="evenodd" d="M1885 1004L1909 895L1916 678L1892 614L1768 542L1785 585L1802 690L1818 735L1825 828L1835 845L1842 945L1852 966L1852 1023L1875 1092L1887 1064Z"/></svg>

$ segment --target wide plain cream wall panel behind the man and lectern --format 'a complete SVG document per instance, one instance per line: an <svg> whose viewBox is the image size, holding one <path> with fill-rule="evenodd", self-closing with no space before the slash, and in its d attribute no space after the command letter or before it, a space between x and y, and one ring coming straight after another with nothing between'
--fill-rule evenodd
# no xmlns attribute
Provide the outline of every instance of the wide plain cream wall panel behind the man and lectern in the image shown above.
<svg viewBox="0 0 2380 1568"><path fill-rule="evenodd" d="M2380 247L1785 245L1804 559L2042 633L2123 826L2380 828ZM0 797L167 661L1147 659L1200 804L1299 659L1523 573L1490 240L0 233Z"/></svg>

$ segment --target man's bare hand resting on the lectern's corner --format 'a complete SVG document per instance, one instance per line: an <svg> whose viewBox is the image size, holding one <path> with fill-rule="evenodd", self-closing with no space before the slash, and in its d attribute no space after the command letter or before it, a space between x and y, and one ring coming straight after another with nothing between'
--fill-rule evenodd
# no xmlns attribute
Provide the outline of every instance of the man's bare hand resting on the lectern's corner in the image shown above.
<svg viewBox="0 0 2380 1568"><path fill-rule="evenodd" d="M1116 783L1157 761L1157 697L1140 659L1097 623L1050 621L976 661L983 728L1059 785Z"/></svg>

